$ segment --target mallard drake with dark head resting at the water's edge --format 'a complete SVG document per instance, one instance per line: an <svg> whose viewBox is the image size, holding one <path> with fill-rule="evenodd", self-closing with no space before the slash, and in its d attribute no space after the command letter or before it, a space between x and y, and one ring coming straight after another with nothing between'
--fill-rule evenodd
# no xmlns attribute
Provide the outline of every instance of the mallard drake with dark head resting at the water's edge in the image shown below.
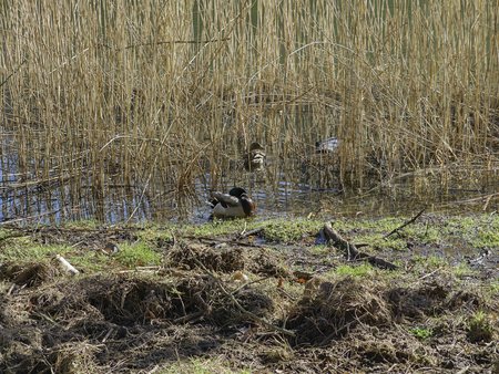
<svg viewBox="0 0 499 374"><path fill-rule="evenodd" d="M228 194L212 193L212 197L213 217L245 218L255 212L255 202L243 188L234 187Z"/></svg>

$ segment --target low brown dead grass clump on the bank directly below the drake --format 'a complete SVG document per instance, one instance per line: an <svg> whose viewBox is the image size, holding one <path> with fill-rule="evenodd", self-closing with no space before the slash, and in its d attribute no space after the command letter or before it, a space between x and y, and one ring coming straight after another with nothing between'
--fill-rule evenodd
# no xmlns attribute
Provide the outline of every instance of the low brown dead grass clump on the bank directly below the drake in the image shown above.
<svg viewBox="0 0 499 374"><path fill-rule="evenodd" d="M244 269L243 250L238 247L183 245L173 248L166 261L186 269L198 269L202 263L211 271L225 273Z"/></svg>

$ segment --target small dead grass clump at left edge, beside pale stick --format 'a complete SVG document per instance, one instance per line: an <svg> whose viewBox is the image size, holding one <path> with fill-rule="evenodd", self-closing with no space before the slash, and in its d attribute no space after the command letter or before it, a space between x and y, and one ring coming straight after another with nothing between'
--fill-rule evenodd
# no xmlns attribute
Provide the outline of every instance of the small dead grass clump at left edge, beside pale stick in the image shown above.
<svg viewBox="0 0 499 374"><path fill-rule="evenodd" d="M0 280L7 280L17 285L37 287L51 279L57 270L43 262L13 263L0 266Z"/></svg>

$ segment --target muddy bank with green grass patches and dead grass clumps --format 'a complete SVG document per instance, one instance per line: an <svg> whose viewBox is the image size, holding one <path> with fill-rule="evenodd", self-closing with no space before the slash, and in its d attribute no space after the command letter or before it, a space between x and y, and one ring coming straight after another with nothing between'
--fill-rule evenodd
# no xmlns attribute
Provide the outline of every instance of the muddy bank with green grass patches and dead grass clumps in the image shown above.
<svg viewBox="0 0 499 374"><path fill-rule="evenodd" d="M404 221L4 228L0 371L497 373L498 218Z"/></svg>

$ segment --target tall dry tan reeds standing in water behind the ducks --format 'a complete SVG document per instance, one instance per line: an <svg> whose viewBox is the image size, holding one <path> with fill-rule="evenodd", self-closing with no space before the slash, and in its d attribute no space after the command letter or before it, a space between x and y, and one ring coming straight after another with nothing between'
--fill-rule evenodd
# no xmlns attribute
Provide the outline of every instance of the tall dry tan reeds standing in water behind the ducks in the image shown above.
<svg viewBox="0 0 499 374"><path fill-rule="evenodd" d="M347 189L497 176L497 24L485 0L6 0L2 188L50 181L78 209L126 186L177 208L254 141L278 179L329 136Z"/></svg>

